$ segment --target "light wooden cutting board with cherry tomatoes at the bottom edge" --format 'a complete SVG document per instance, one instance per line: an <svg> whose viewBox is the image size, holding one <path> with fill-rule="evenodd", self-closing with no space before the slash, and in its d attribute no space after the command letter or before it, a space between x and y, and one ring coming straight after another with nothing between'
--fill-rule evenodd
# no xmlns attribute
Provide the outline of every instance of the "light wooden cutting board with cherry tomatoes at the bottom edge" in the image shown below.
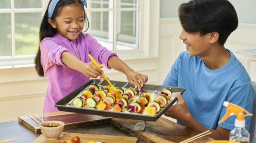
<svg viewBox="0 0 256 143"><path fill-rule="evenodd" d="M48 141L42 134L36 138L33 143L59 143L60 141L66 141L67 139L72 139L73 136L79 136L80 143L87 143L89 141L94 142L105 142L105 143L136 143L137 137L127 137L127 136L109 136L109 135L93 135L93 134L78 134L78 133L61 133L58 140Z"/></svg>

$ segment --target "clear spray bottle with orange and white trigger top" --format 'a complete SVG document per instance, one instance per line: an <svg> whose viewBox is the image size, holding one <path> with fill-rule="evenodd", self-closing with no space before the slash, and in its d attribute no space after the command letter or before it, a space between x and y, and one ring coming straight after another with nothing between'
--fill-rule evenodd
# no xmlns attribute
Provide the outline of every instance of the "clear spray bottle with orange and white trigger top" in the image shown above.
<svg viewBox="0 0 256 143"><path fill-rule="evenodd" d="M249 143L250 142L250 134L244 128L245 127L245 119L246 116L253 116L253 114L249 113L242 107L224 101L223 106L227 107L226 113L223 118L219 121L219 124L224 122L228 117L236 115L235 119L235 128L229 133L229 141L241 142L241 143ZM244 115L243 112L247 114Z"/></svg>

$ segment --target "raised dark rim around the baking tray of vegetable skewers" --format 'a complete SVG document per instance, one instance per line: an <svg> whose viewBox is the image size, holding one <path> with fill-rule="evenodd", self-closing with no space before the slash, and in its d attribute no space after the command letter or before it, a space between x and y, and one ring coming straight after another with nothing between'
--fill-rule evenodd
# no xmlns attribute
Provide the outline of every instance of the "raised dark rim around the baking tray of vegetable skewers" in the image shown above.
<svg viewBox="0 0 256 143"><path fill-rule="evenodd" d="M59 101L57 101L54 106L58 108L59 111L67 111L67 112L75 112L75 113L84 113L84 114L91 114L91 115L98 115L98 116L104 116L104 117L115 117L115 118L127 118L127 119L135 119L135 120L146 120L146 121L156 121L159 117L163 115L163 113L168 110L176 101L177 98L174 98L166 107L164 107L158 114L156 115L144 115L144 114L139 114L139 113L130 113L130 112L117 112L117 111L108 111L108 110L97 110L97 109L88 109L88 108L78 108L78 107L71 107L71 106L66 106L63 104L60 104L61 102L64 102L66 98L74 94L74 92L78 92L80 89L85 89L89 84L95 83L95 81L100 81L100 79L90 79L87 83L83 84L82 86L78 87L75 89L73 92L67 94L63 98L61 98ZM111 83L115 82L122 82L122 81L112 81L110 80ZM124 82L124 83L129 83L129 82ZM145 84L145 85L152 85L152 86L163 86L163 85L154 85L154 84ZM164 86L164 87L175 87L175 86ZM142 87L143 88L143 87ZM175 87L175 88L181 88L181 94L185 91L184 87ZM81 91L82 91L81 90ZM81 92L79 91L78 94ZM77 94L75 94L76 96ZM75 97L73 96L72 99ZM72 100L71 99L71 100ZM69 100L69 101L71 101ZM69 102L68 101L68 102ZM109 116L111 115L111 116ZM114 115L114 116L112 116Z"/></svg>

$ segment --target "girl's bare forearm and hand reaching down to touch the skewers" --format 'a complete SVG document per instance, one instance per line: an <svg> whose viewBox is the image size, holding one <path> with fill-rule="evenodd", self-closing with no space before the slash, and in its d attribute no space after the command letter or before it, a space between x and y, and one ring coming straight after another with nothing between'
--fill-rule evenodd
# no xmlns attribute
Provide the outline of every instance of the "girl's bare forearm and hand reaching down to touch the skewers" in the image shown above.
<svg viewBox="0 0 256 143"><path fill-rule="evenodd" d="M147 82L148 77L140 73L134 72L128 65L126 65L121 59L116 56L111 56L108 59L108 66L114 68L115 70L122 72L126 75L128 81L134 86L138 87L138 90L141 90L144 83Z"/></svg>

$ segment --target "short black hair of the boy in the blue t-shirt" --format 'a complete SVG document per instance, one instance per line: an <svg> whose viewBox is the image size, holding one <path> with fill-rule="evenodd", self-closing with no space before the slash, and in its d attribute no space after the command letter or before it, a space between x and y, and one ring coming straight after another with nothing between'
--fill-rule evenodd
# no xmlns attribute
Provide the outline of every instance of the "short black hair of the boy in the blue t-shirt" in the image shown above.
<svg viewBox="0 0 256 143"><path fill-rule="evenodd" d="M224 45L228 36L237 28L235 8L228 0L192 0L178 9L182 28L189 33L218 32L219 44Z"/></svg>

